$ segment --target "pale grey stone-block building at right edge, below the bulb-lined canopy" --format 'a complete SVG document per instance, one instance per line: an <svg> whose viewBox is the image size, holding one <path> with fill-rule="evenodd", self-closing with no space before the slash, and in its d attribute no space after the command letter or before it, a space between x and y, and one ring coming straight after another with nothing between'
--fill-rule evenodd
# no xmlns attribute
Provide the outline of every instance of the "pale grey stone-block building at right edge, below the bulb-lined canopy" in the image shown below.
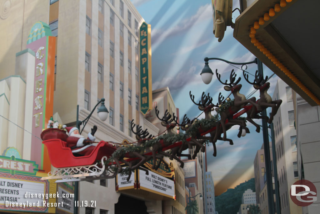
<svg viewBox="0 0 320 214"><path fill-rule="evenodd" d="M294 118L297 128L297 168L299 180L311 181L320 189L319 139L320 107L310 106L299 94L293 93ZM309 194L308 196L311 196ZM302 207L303 214L319 213L319 199Z"/></svg>

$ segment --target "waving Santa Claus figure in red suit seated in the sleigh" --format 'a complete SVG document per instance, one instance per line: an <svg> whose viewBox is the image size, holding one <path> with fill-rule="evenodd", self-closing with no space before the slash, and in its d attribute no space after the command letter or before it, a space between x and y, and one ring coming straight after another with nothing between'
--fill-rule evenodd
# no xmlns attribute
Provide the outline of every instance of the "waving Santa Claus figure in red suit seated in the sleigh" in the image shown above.
<svg viewBox="0 0 320 214"><path fill-rule="evenodd" d="M69 133L69 137L67 138L67 146L71 148L72 153L80 156L90 155L92 150L95 148L95 145L92 144L92 141L96 140L96 137L93 135L97 131L97 126L93 126L91 133L88 134L87 139L80 135L79 129L76 127L66 127L66 129Z"/></svg>

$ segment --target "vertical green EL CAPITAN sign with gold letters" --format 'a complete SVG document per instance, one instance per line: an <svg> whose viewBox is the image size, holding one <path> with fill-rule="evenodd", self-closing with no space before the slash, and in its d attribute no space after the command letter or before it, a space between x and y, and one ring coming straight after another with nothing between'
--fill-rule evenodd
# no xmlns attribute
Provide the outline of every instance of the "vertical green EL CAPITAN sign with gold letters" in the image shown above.
<svg viewBox="0 0 320 214"><path fill-rule="evenodd" d="M140 27L140 111L152 109L151 25L143 22Z"/></svg>

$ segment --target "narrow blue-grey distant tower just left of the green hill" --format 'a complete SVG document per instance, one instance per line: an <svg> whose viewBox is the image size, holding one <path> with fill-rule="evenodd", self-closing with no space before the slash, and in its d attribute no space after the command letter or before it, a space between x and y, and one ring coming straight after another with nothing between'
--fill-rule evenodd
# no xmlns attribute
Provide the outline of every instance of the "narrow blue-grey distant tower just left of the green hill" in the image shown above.
<svg viewBox="0 0 320 214"><path fill-rule="evenodd" d="M216 206L214 201L214 183L212 172L205 173L205 212L208 214L216 213Z"/></svg>

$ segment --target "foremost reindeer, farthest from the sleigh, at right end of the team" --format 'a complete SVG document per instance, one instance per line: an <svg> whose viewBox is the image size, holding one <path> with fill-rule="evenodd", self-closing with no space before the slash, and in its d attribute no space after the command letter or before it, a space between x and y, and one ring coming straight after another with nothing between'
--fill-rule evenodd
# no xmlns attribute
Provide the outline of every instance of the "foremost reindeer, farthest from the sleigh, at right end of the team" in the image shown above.
<svg viewBox="0 0 320 214"><path fill-rule="evenodd" d="M248 78L248 74L243 72L243 75L244 75L244 79L248 83L253 85L253 87L255 89L257 89L257 90L259 89L260 99L258 99L257 103L258 103L258 105L260 105L262 107L261 111L268 108L268 107L272 108L270 118L268 118L268 116L257 115L256 109L253 106L249 111L247 111L247 120L257 128L256 129L257 132L260 132L260 126L258 124L256 124L252 119L263 118L265 120L268 120L268 123L271 124L273 117L277 113L277 111L282 103L282 100L281 99L272 100L271 96L267 93L268 89L270 88L270 83L267 82L268 76L266 76L266 78L264 79L263 76L258 71L256 71L255 76L254 76L254 81L250 82L249 78ZM260 111L260 110L258 109L258 111ZM254 116L252 116L252 114L254 114Z"/></svg>

